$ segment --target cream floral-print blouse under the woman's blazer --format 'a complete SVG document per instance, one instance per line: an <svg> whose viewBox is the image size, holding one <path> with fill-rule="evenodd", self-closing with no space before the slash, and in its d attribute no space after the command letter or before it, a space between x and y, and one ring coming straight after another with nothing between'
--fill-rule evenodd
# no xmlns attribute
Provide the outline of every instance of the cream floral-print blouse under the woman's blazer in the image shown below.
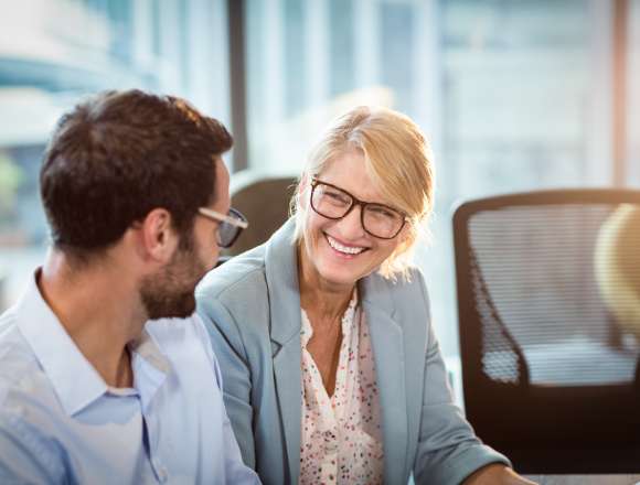
<svg viewBox="0 0 640 485"><path fill-rule="evenodd" d="M302 310L300 484L382 484L381 410L371 337L354 292L342 315L335 390L329 396L307 344Z"/></svg>

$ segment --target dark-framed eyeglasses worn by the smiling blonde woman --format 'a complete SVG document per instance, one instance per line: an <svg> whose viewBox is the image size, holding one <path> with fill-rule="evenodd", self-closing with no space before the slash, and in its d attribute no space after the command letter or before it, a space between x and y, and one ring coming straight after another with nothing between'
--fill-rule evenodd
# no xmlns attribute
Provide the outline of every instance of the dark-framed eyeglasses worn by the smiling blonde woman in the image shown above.
<svg viewBox="0 0 640 485"><path fill-rule="evenodd" d="M344 188L311 179L311 208L328 219L341 219L360 206L362 228L373 237L393 239L407 222L402 212L384 204L364 202Z"/></svg>

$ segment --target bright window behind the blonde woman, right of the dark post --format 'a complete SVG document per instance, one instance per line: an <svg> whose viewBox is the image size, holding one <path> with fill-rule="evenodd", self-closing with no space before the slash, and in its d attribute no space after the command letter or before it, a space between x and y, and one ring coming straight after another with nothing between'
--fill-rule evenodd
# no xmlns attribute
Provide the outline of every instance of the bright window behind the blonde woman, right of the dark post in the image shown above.
<svg viewBox="0 0 640 485"><path fill-rule="evenodd" d="M249 166L299 173L324 125L356 105L416 120L437 169L431 242L417 262L452 355L456 201L612 182L612 6L247 0Z"/></svg>

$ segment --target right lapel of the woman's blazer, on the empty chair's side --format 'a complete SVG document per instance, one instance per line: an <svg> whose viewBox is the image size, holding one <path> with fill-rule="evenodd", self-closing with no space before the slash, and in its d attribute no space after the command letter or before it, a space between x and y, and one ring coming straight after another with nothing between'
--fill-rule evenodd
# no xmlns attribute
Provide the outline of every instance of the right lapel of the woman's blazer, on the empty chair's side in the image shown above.
<svg viewBox="0 0 640 485"><path fill-rule="evenodd" d="M407 452L407 406L403 330L394 321L388 288L378 277L363 280L363 310L371 333L375 374L382 410L384 483L396 484L404 477Z"/></svg>

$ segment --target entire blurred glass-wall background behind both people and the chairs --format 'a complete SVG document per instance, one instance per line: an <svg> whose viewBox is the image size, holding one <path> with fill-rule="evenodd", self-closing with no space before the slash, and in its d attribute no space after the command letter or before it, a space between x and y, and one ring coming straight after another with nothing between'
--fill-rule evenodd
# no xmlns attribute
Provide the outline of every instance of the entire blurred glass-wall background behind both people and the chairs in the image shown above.
<svg viewBox="0 0 640 485"><path fill-rule="evenodd" d="M451 208L640 186L640 0L21 0L0 15L0 309L46 250L38 172L78 97L183 96L236 138L232 172L298 173L352 106L401 110L436 154L417 262L458 349Z"/></svg>

